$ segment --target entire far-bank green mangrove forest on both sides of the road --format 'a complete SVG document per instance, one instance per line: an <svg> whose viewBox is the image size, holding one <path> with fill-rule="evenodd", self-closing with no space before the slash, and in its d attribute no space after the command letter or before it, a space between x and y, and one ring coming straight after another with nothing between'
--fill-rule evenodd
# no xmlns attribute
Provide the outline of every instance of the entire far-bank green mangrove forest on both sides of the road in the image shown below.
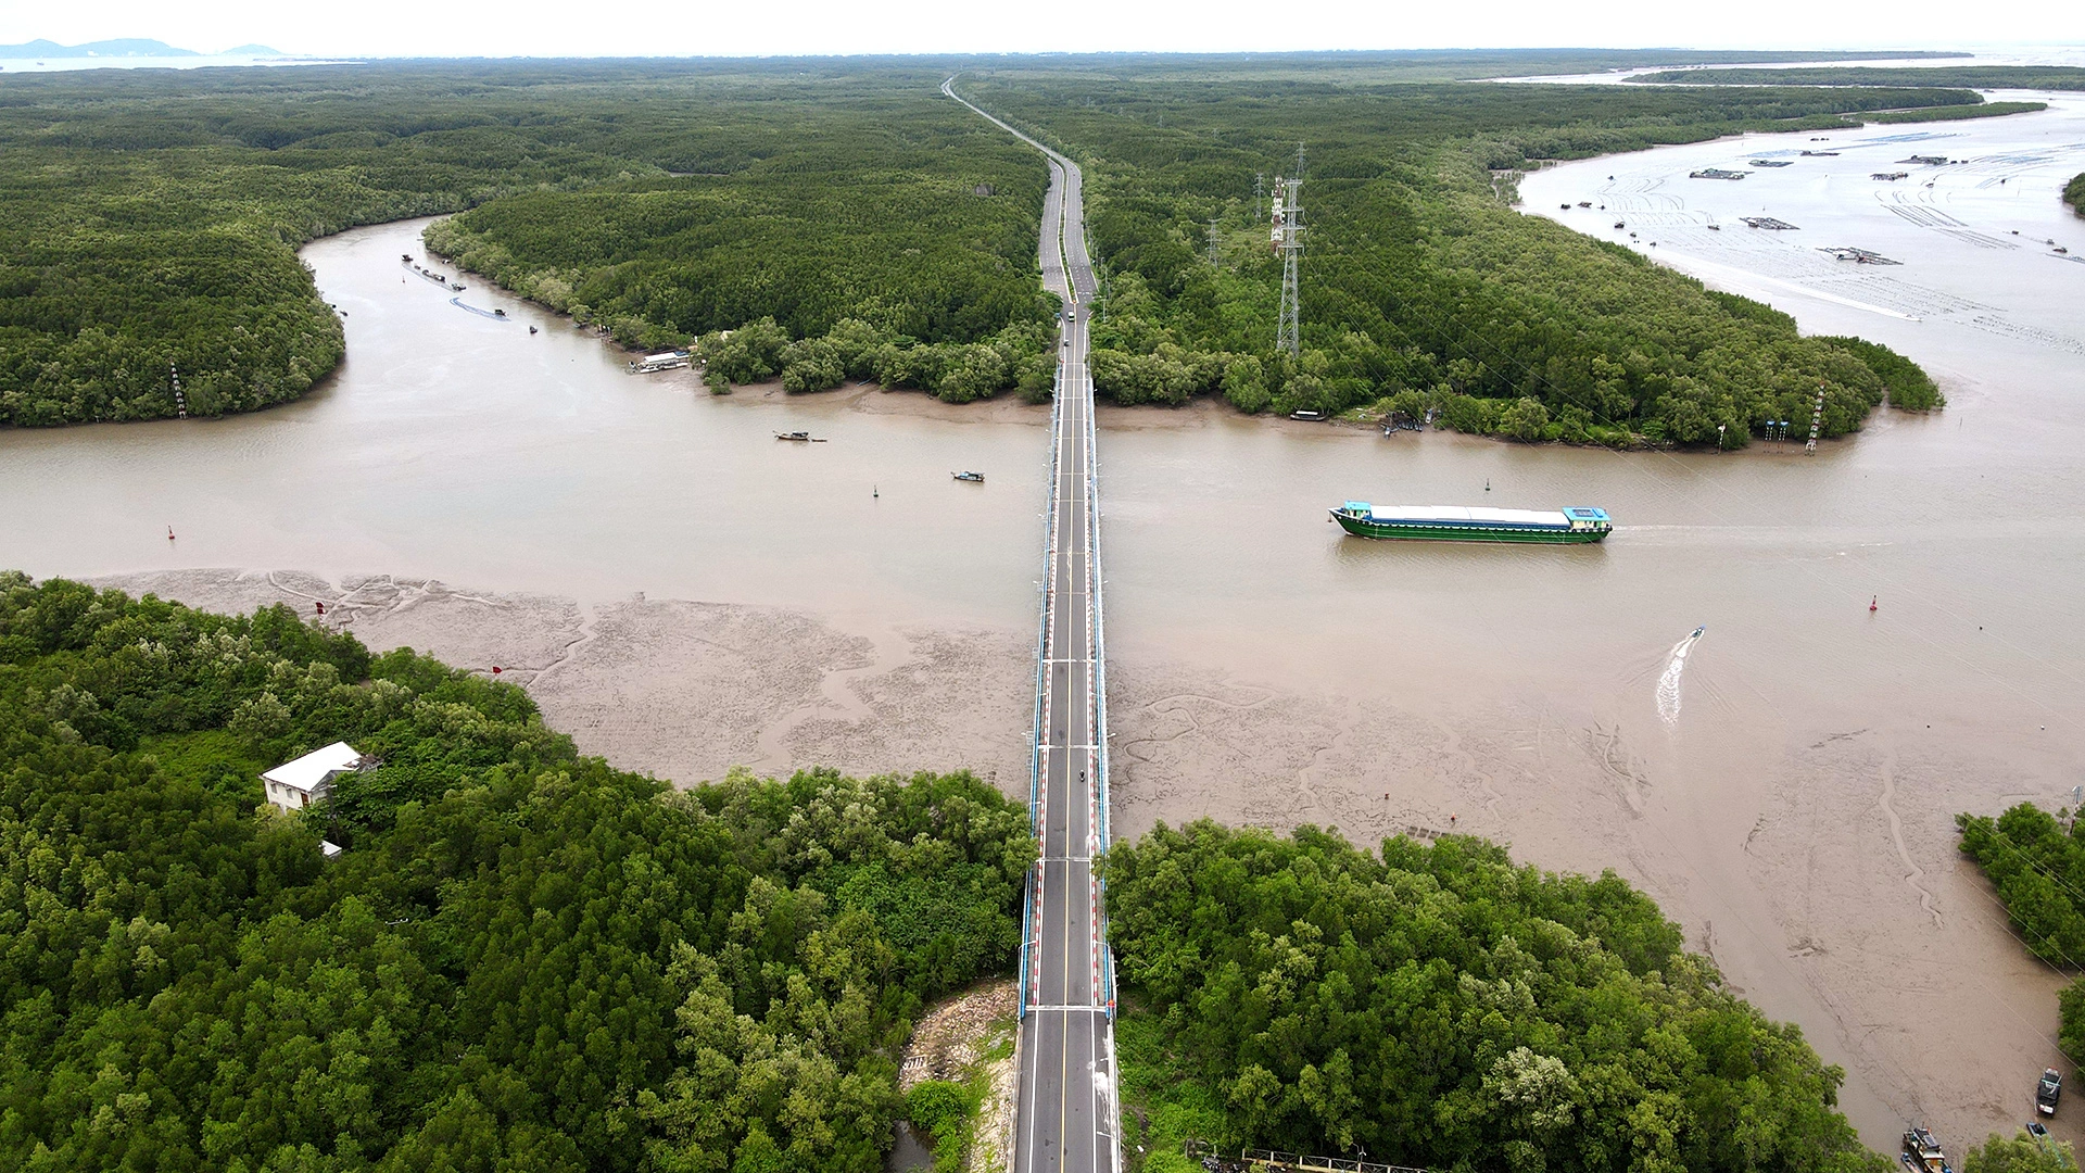
<svg viewBox="0 0 2085 1173"><path fill-rule="evenodd" d="M1583 240L1530 238L1543 230L1493 207L1485 169L1885 106L1956 111L1974 94L1389 81L1804 56L1074 56L999 63L986 98L1095 161L1097 244L1143 280L1111 288L1122 330L1097 357L1122 401L1226 390L1249 409L1353 407L1409 390L1443 411L1472 399L1451 413L1472 430L1697 442L1714 424L1791 417L1818 380L1837 434L1885 390L1785 319ZM1042 397L1045 171L936 98L949 69L10 75L0 426L171 415L175 372L200 415L302 394L340 361L342 330L296 244L448 211L463 215L430 232L434 248L626 344L698 342L719 390L780 376L792 390L869 378L959 401ZM1314 338L1291 369L1259 336L1272 292L1249 192L1297 138L1336 148L1314 146ZM1178 288L1205 215L1230 230L1228 263ZM1535 255L1562 261L1555 280L1530 276Z"/></svg>

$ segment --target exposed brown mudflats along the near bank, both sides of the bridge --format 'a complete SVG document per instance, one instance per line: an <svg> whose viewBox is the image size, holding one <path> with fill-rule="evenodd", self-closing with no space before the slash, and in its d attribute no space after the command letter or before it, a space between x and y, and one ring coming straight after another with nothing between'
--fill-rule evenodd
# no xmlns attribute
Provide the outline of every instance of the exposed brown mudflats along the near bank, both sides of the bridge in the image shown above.
<svg viewBox="0 0 2085 1173"><path fill-rule="evenodd" d="M1015 799L1028 787L1028 630L642 595L584 603L392 576L171 570L92 582L219 612L284 601L309 616L323 599L325 622L371 649L411 645L511 680L582 753L676 785L732 766L782 776L834 766L967 768ZM1954 1035L2018 1042L2022 1008L2045 1012L2054 1033L2066 979L2012 941L1952 824L1956 810L1991 806L1993 787L2039 791L2018 770L1987 776L1916 718L1847 728L1835 714L1747 705L1745 720L1703 726L1708 741L1687 751L1662 745L1633 710L1541 687L1432 697L1424 680L1343 683L1149 639L1109 660L1122 835L1195 818L1276 833L1318 824L1374 852L1393 835L1470 833L1518 864L1612 868L1735 994L1797 1023L1847 1069L1841 1106L1870 1146L1887 1148L1906 1119L1956 1144L1981 1140L2010 1115L2006 1062L1952 1046ZM1712 657L1693 668L1710 672L1695 687L1735 701L1741 676L1716 683L1733 670ZM1708 772L1691 758L1749 766ZM1870 835L1879 810L1881 837ZM1904 933L1935 935L1931 950L1977 958L1974 971L1904 973L1885 945ZM1947 998L1972 989L1974 1008ZM1952 1006L1945 1071L1931 1064L1935 996ZM2035 1071L2058 1062L2027 1058Z"/></svg>

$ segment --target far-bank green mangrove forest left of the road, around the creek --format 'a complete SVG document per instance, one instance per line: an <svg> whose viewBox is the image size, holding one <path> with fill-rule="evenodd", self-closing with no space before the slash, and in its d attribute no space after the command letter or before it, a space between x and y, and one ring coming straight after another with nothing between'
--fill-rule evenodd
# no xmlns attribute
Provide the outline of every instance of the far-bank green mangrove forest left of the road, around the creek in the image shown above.
<svg viewBox="0 0 2085 1173"><path fill-rule="evenodd" d="M342 355L300 242L502 194L471 221L482 242L450 244L553 305L592 298L626 342L763 315L990 340L1045 317L1042 165L938 79L836 61L8 75L0 426L173 415L169 367L190 413L294 399Z"/></svg>

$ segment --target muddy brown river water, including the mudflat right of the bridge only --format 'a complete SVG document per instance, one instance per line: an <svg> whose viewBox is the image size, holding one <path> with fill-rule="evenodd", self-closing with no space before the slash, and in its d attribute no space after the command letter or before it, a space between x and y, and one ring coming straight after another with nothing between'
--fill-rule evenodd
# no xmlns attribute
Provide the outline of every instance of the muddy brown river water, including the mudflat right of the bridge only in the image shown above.
<svg viewBox="0 0 2085 1173"><path fill-rule="evenodd" d="M1457 829L1549 868L1612 866L1847 1069L1870 1144L1908 1121L1956 1146L2025 1121L2058 1060L2062 977L2008 935L1952 818L2085 785L2085 265L2029 240L2085 255L2085 221L2054 200L2085 169L2085 100L2056 106L1835 136L1839 159L1714 188L1687 171L1812 144L1522 182L1532 211L1612 202L1553 213L1595 234L1624 205L1655 221L1660 261L1889 342L1947 388L1947 411L1881 411L1816 457L1103 413L1118 833L1201 814L1362 841ZM1977 161L1933 188L1868 184L1912 152ZM350 357L302 403L0 432L0 564L392 572L1032 632L1045 411L632 376L473 278L455 294L402 271L419 228L304 250ZM1826 244L1904 265L1847 267ZM828 442L771 438L796 428ZM1326 524L1349 497L1601 505L1618 532L1366 543Z"/></svg>

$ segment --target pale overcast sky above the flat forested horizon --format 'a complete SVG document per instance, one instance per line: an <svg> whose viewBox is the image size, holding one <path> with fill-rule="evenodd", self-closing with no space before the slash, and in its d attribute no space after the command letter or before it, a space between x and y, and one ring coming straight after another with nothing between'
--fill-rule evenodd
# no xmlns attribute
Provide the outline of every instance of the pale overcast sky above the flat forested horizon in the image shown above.
<svg viewBox="0 0 2085 1173"><path fill-rule="evenodd" d="M1977 13L1995 15L1985 21ZM2085 2L2022 0L0 0L0 44L158 38L327 56L682 56L1280 48L1929 48L2085 44Z"/></svg>

